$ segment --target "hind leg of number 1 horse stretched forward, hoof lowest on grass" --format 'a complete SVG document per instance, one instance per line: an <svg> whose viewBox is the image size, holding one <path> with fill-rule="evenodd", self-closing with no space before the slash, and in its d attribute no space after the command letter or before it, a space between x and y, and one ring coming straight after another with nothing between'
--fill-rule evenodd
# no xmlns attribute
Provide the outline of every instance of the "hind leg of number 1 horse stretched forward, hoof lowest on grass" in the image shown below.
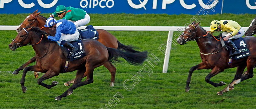
<svg viewBox="0 0 256 109"><path fill-rule="evenodd" d="M77 72L74 84L71 87L69 87L69 89L66 90L62 95L60 95L58 97L55 97L55 100L61 100L62 97L66 97L66 96L72 94L73 90L75 90L77 87L93 83L93 70L94 70L94 68L86 67L86 72L85 73L87 74L87 78L84 82L79 82L79 81L82 80L84 73L83 72Z"/></svg>

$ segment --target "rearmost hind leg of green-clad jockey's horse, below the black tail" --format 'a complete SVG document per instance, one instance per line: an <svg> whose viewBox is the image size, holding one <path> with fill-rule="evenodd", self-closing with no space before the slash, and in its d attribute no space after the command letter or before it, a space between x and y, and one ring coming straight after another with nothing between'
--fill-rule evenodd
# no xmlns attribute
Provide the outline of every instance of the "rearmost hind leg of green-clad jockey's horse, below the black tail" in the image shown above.
<svg viewBox="0 0 256 109"><path fill-rule="evenodd" d="M115 83L115 77L116 77L116 67L111 62L106 62L103 64L108 71L111 73L111 81L110 81L110 87L114 87Z"/></svg>

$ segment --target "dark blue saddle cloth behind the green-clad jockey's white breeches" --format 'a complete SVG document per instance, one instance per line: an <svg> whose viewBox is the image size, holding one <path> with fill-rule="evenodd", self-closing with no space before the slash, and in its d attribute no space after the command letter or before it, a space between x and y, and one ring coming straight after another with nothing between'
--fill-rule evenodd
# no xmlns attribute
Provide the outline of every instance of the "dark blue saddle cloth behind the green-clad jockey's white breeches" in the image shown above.
<svg viewBox="0 0 256 109"><path fill-rule="evenodd" d="M87 31L83 31L87 29ZM93 28L92 25L85 27L85 29L77 29L82 39L99 39L99 33Z"/></svg>

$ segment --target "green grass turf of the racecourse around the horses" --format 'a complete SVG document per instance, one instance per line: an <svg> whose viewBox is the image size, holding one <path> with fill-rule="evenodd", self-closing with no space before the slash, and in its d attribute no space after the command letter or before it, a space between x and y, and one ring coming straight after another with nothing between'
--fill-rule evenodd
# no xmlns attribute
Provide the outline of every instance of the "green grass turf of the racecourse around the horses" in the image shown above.
<svg viewBox="0 0 256 109"><path fill-rule="evenodd" d="M19 25L29 14L0 14L0 25ZM49 14L43 13L46 17ZM194 15L167 15L167 14L90 14L91 21L88 25L93 26L184 26L190 23ZM216 14L201 15L201 26L209 26L212 20L234 20L241 26L249 26L254 14ZM8 44L17 35L16 31L0 30L0 108L106 108L108 100L119 92L124 98L114 108L152 108L152 109L198 109L198 108L255 108L255 78L243 81L235 86L234 90L224 93L222 96L216 93L226 87L213 87L205 82L204 77L211 70L194 71L190 84L190 91L185 92L185 85L188 71L192 66L201 63L199 48L194 41L186 45L174 45L171 50L168 73L161 73L164 61L164 54L158 49L165 44L168 32L165 31L109 31L125 45L132 44L140 48L140 51L147 50L155 54L160 62L155 65L153 74L148 76L141 73L142 79L137 72L141 66L132 66L126 63L116 63L117 73L115 87L109 87L111 75L108 70L100 66L94 70L94 83L82 86L74 90L72 95L62 98L61 101L54 100L65 92L68 87L62 85L75 77L75 72L63 73L57 77L45 80L50 84L56 80L60 84L48 90L37 84L33 72L28 72L25 80L27 92L22 93L20 78L22 71L18 75L11 73L20 65L27 62L34 56L31 46L24 46L15 51L8 48ZM174 32L177 34L178 32ZM218 35L216 32L214 35ZM151 56L152 57L152 56ZM122 59L123 60L123 59ZM32 63L31 65L34 65ZM224 81L230 83L235 75L236 68L227 69L216 75L211 80L214 82ZM39 73L43 75L43 73ZM132 87L131 78L137 75L141 81L135 84L133 90L126 90L123 82L127 79L127 87ZM83 79L84 80L84 79ZM108 108L111 108L108 106Z"/></svg>

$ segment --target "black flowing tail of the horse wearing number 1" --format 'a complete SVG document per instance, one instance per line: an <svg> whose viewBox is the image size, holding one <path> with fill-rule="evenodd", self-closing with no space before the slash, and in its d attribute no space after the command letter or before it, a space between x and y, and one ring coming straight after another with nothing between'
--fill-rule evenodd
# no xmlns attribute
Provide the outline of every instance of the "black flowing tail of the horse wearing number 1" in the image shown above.
<svg viewBox="0 0 256 109"><path fill-rule="evenodd" d="M115 62L120 62L118 60L118 57L122 57L125 59L129 64L131 65L139 65L142 64L148 56L148 52L139 52L139 53L132 53L132 52L124 52L120 49L114 49L114 48L109 48L108 49L108 61L115 63Z"/></svg>

